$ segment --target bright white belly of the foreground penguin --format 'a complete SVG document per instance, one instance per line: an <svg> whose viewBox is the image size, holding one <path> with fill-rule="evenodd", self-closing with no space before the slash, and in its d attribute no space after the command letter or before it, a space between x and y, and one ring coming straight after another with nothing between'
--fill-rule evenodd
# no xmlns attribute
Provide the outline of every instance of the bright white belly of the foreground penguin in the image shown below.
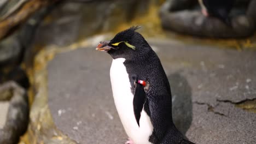
<svg viewBox="0 0 256 144"><path fill-rule="evenodd" d="M125 58L113 59L110 68L110 80L115 106L117 107L118 115L126 134L131 140L135 144L148 144L150 143L148 140L149 136L152 134L153 125L149 116L143 109L141 118L139 119L140 127L138 127L133 113L133 94L131 93L130 80L124 61Z"/></svg>

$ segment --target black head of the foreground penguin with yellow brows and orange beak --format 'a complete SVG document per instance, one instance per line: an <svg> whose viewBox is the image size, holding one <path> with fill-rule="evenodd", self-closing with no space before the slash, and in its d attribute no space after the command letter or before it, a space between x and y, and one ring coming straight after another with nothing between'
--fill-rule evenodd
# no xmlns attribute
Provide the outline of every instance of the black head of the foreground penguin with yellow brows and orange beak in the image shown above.
<svg viewBox="0 0 256 144"><path fill-rule="evenodd" d="M119 32L110 41L101 41L96 50L105 51L115 58L131 59L150 50L150 46L141 34L136 32L139 26Z"/></svg>

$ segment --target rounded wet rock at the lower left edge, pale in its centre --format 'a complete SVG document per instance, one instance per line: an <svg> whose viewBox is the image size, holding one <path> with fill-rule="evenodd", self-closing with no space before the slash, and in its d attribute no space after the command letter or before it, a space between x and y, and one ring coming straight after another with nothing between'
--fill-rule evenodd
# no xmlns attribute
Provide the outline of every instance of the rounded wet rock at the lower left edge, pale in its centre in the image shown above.
<svg viewBox="0 0 256 144"><path fill-rule="evenodd" d="M2 93L8 93L6 91L11 91L11 95L9 95L11 98L7 119L4 127L0 129L0 143L13 144L19 141L19 137L27 129L29 113L28 98L25 90L15 82L7 82L1 85L0 97L2 97Z"/></svg>

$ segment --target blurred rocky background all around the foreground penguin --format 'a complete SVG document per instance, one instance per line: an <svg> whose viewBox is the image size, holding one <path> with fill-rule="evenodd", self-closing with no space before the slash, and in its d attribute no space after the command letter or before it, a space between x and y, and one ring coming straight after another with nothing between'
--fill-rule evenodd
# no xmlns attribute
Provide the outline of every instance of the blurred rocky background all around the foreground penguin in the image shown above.
<svg viewBox="0 0 256 144"><path fill-rule="evenodd" d="M189 140L255 143L256 1L200 2L0 0L0 143L124 143L111 58L95 47L131 26L158 53Z"/></svg>

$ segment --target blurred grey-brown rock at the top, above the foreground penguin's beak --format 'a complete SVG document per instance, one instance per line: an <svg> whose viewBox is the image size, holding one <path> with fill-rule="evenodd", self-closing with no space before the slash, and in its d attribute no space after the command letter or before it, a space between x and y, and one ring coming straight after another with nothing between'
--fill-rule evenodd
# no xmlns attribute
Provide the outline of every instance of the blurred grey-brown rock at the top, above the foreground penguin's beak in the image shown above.
<svg viewBox="0 0 256 144"><path fill-rule="evenodd" d="M150 1L71 2L60 4L53 10L50 22L39 28L37 44L68 45L92 34L111 31L121 23L147 13Z"/></svg>

